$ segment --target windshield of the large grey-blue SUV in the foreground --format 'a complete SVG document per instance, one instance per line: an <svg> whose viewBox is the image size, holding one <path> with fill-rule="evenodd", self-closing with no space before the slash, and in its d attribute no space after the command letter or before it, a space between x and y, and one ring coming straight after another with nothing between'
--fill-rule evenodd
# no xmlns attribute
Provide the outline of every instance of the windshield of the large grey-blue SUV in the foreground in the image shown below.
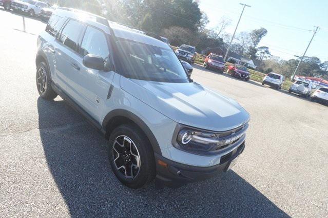
<svg viewBox="0 0 328 218"><path fill-rule="evenodd" d="M171 49L130 41L118 41L117 45L125 77L159 82L189 82L182 64Z"/></svg>

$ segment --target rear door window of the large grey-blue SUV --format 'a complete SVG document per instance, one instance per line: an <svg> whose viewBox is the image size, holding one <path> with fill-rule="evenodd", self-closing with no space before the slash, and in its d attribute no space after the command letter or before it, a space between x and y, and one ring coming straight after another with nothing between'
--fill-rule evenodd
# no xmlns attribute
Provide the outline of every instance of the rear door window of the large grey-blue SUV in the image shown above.
<svg viewBox="0 0 328 218"><path fill-rule="evenodd" d="M76 51L83 27L84 25L82 23L76 20L69 20L59 37L59 41L68 48Z"/></svg>

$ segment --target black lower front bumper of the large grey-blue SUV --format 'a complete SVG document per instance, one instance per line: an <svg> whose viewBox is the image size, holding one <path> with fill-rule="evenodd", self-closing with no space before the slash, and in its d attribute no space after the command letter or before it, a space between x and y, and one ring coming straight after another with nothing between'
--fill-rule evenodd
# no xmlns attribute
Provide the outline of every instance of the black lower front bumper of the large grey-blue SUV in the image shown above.
<svg viewBox="0 0 328 218"><path fill-rule="evenodd" d="M236 159L245 148L245 141L228 154L223 155L220 159L220 164L210 167L197 167L186 164L177 163L162 157L155 153L157 182L171 187L178 188L186 183L203 181L218 175L219 172L225 172L231 162ZM166 166L160 163L166 163Z"/></svg>

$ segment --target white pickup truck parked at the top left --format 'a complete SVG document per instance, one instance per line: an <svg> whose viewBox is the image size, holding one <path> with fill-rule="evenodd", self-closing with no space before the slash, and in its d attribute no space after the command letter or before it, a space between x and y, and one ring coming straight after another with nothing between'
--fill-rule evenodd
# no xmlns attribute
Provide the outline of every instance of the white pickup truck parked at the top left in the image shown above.
<svg viewBox="0 0 328 218"><path fill-rule="evenodd" d="M12 0L11 8L14 12L27 13L30 17L39 16L43 8L48 8L47 3L36 0Z"/></svg>

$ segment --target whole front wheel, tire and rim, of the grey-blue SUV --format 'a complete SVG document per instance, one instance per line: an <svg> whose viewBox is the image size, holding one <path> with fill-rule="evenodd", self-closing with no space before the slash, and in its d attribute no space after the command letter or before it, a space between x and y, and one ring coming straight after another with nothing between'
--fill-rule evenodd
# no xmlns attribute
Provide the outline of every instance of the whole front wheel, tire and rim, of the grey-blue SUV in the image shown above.
<svg viewBox="0 0 328 218"><path fill-rule="evenodd" d="M108 156L115 176L130 188L140 188L156 176L152 147L136 124L123 124L113 130Z"/></svg>

